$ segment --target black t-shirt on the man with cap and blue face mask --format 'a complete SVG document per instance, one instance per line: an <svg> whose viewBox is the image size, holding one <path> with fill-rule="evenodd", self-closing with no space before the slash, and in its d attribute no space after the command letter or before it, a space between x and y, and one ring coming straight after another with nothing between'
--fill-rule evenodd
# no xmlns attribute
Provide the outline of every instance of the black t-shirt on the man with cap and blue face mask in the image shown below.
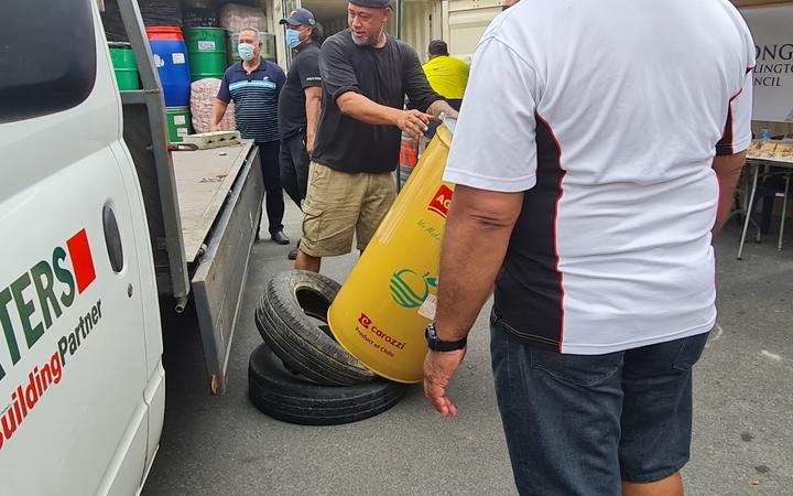
<svg viewBox="0 0 793 496"><path fill-rule="evenodd" d="M305 88L321 86L319 47L311 43L292 58L286 84L281 90L279 98L281 139L291 138L305 130Z"/></svg>

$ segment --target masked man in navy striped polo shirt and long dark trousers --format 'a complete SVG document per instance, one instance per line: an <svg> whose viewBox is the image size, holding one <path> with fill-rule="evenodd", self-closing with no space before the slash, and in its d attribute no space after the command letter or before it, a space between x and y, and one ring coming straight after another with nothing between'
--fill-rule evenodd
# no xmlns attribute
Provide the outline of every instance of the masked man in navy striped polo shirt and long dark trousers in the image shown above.
<svg viewBox="0 0 793 496"><path fill-rule="evenodd" d="M261 48L259 31L252 28L240 31L238 52L242 61L226 69L215 100L210 129L219 129L226 107L233 100L237 129L242 138L253 140L259 147L270 238L279 245L289 245L282 224L284 203L279 171L281 134L278 125L279 94L286 76L281 67L262 58Z"/></svg>

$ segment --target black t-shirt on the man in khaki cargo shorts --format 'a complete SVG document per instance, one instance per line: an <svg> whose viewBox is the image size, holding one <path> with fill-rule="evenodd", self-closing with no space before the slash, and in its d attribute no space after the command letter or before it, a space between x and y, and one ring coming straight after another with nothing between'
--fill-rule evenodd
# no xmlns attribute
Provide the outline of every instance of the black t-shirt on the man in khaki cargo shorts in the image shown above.
<svg viewBox="0 0 793 496"><path fill-rule="evenodd" d="M322 46L323 108L313 159L343 172L389 172L397 168L402 133L395 126L373 126L345 116L336 99L356 91L370 100L404 108L408 95L426 111L443 97L427 83L419 54L391 36L385 46L357 46L349 30Z"/></svg>

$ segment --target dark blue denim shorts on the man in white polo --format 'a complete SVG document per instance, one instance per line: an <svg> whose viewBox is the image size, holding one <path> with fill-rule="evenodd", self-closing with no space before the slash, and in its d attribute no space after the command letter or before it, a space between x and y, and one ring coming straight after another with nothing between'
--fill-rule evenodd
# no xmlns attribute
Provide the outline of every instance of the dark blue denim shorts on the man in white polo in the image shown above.
<svg viewBox="0 0 793 496"><path fill-rule="evenodd" d="M496 393L521 495L619 495L688 461L692 366L708 333L606 355L519 341L491 317Z"/></svg>

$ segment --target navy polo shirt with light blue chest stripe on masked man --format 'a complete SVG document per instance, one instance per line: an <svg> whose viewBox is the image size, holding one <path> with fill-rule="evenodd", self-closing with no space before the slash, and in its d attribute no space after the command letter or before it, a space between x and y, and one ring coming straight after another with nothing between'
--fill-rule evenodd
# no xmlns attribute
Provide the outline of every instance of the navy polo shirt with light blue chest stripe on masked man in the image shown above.
<svg viewBox="0 0 793 496"><path fill-rule="evenodd" d="M281 139L278 126L278 100L286 82L278 65L262 58L250 74L238 62L226 69L218 99L233 100L237 129L245 139L268 143Z"/></svg>

